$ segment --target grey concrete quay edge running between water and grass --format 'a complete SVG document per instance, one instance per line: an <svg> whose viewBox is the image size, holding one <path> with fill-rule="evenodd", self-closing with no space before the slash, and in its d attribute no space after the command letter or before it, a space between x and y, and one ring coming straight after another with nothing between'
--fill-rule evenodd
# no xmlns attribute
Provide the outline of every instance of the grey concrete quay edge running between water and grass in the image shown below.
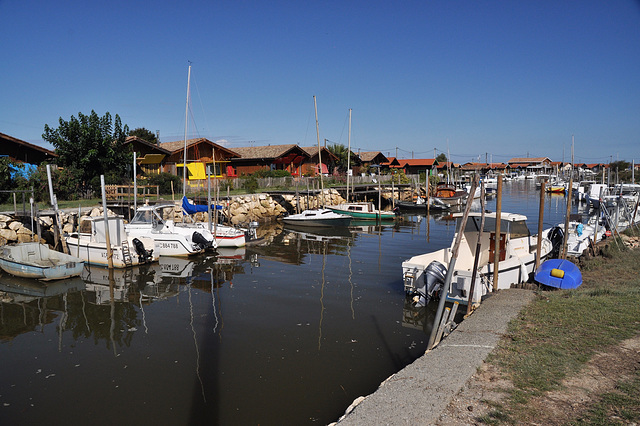
<svg viewBox="0 0 640 426"><path fill-rule="evenodd" d="M389 377L373 394L356 399L338 425L435 423L496 347L509 321L534 297L533 291L521 289L489 297L434 350Z"/></svg>

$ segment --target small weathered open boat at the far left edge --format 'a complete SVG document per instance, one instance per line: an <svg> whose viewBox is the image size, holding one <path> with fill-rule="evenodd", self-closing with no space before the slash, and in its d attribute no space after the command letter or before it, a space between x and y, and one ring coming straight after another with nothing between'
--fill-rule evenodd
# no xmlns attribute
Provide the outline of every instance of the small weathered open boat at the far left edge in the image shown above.
<svg viewBox="0 0 640 426"><path fill-rule="evenodd" d="M40 243L2 247L0 268L11 275L38 280L61 280L80 275L84 261Z"/></svg>

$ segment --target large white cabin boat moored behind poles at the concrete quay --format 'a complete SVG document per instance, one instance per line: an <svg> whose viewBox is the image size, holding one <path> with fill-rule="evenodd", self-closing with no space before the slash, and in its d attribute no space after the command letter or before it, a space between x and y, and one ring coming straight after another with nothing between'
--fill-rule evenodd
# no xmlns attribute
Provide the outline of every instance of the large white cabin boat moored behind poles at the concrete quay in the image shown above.
<svg viewBox="0 0 640 426"><path fill-rule="evenodd" d="M481 212L470 213L465 229L462 230L463 235L447 296L448 300L467 303L481 215ZM456 213L454 216L460 218L462 214ZM501 214L498 289L509 288L512 284L526 282L533 272L538 238L530 234L526 220L526 216L520 214ZM472 298L474 303L479 302L482 296L490 292L493 285L495 226L495 212L485 213L475 290ZM456 237L454 236L454 242L455 239ZM429 299L444 284L454 242L449 248L417 255L402 262L405 292L408 295L418 296L418 303L428 303ZM549 256L551 250L551 241L543 236L541 262Z"/></svg>

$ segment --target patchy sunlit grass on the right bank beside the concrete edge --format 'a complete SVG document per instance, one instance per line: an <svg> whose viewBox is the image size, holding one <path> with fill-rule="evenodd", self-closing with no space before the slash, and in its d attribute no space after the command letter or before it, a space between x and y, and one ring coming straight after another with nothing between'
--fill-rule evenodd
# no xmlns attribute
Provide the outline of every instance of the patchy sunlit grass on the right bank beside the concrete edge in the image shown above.
<svg viewBox="0 0 640 426"><path fill-rule="evenodd" d="M611 249L608 254L610 257L587 261L581 287L541 291L511 322L507 338L488 361L501 369L514 389L505 406L494 410L502 411L501 416L487 422L523 421L532 397L561 388L562 381L580 371L595 353L640 333L640 250ZM621 389L640 395L639 380L637 376L621 384ZM622 419L640 410L640 397L628 392L603 395L602 401L606 407L599 409L606 413L602 416L618 410L615 416ZM600 424L598 412L585 421ZM498 420L502 416L511 420Z"/></svg>

